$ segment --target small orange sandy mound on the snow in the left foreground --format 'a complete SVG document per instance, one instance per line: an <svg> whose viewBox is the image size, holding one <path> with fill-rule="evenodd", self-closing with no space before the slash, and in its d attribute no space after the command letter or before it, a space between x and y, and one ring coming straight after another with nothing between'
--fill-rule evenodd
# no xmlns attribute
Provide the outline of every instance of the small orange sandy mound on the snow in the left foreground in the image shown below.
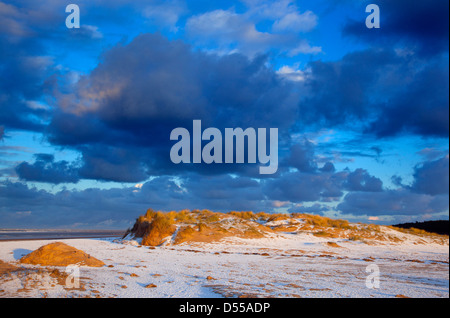
<svg viewBox="0 0 450 318"><path fill-rule="evenodd" d="M105 263L89 254L61 242L41 246L34 252L22 257L20 262L43 266L84 265L101 267L105 265Z"/></svg>

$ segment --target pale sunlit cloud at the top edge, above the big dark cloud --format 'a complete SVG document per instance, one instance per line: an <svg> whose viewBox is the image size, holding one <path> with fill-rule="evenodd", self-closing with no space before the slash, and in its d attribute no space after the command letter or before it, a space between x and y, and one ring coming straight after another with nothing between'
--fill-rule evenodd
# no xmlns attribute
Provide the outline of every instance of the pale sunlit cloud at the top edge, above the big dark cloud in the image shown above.
<svg viewBox="0 0 450 318"><path fill-rule="evenodd" d="M231 8L194 15L186 22L186 32L198 45L216 52L252 56L275 50L296 56L322 51L299 37L317 26L318 17L312 11L301 12L291 1L246 1L246 5L243 13ZM271 28L259 30L257 24L266 21Z"/></svg>

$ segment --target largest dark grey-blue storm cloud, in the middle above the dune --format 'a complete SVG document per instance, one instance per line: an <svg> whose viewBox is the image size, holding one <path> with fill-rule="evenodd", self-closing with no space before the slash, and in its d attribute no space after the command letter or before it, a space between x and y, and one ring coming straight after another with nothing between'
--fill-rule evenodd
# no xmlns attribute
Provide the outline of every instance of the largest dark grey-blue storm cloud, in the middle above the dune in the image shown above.
<svg viewBox="0 0 450 318"><path fill-rule="evenodd" d="M82 153L83 176L131 182L180 172L169 158L174 144L169 136L177 127L192 132L193 119L202 120L203 129L279 128L282 143L295 121L297 99L292 83L265 63L263 56L206 55L161 35L138 36L106 52L73 93L60 96L60 110L47 130L49 141ZM118 151L120 169L112 169ZM182 168L213 173L246 169Z"/></svg>

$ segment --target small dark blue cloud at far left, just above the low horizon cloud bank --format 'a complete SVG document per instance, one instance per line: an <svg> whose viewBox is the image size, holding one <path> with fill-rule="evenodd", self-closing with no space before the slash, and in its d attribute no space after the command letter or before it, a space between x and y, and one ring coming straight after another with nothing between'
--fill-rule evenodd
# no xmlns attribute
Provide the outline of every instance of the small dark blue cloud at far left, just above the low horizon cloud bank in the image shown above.
<svg viewBox="0 0 450 318"><path fill-rule="evenodd" d="M59 183L76 183L80 177L78 168L67 161L54 161L49 154L36 154L33 164L22 162L16 167L16 173L22 180Z"/></svg>

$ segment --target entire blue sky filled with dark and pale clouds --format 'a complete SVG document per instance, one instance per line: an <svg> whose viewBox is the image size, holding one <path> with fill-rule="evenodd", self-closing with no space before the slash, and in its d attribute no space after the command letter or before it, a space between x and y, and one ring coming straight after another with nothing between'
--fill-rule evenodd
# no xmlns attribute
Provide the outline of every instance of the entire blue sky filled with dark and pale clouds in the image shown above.
<svg viewBox="0 0 450 318"><path fill-rule="evenodd" d="M448 220L448 7L0 1L0 228L122 229L148 208ZM174 164L193 120L277 128L278 170Z"/></svg>

